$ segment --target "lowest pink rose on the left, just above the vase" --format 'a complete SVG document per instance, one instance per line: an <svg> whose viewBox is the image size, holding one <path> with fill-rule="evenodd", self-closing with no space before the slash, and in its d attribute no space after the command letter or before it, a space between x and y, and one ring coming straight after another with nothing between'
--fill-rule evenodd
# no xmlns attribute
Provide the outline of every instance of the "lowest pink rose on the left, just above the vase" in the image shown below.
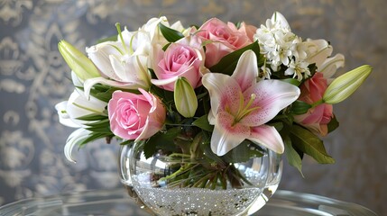
<svg viewBox="0 0 387 216"><path fill-rule="evenodd" d="M110 130L123 139L147 139L161 130L166 110L160 99L139 89L142 94L115 91L107 104Z"/></svg>

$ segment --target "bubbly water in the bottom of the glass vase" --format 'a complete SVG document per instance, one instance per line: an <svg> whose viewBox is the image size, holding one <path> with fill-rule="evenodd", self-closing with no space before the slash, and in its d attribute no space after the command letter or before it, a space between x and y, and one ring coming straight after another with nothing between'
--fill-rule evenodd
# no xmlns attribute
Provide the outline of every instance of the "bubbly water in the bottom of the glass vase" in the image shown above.
<svg viewBox="0 0 387 216"><path fill-rule="evenodd" d="M203 188L137 187L136 192L160 215L235 215L260 195L257 188L210 190Z"/></svg>

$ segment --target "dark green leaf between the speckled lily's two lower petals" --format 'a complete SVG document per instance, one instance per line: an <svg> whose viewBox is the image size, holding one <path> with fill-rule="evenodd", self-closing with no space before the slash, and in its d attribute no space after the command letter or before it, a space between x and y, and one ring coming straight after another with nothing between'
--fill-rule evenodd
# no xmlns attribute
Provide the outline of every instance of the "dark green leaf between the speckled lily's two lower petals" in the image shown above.
<svg viewBox="0 0 387 216"><path fill-rule="evenodd" d="M241 144L231 149L222 158L226 163L242 163L253 157L263 157L262 148L254 147L257 147L256 144L248 139L244 139Z"/></svg>

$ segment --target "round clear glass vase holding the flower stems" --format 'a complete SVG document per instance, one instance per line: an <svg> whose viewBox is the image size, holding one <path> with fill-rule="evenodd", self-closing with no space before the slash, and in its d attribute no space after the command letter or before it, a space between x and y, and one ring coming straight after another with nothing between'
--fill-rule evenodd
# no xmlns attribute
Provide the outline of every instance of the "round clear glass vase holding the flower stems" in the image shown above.
<svg viewBox="0 0 387 216"><path fill-rule="evenodd" d="M130 143L120 148L121 178L153 215L251 215L277 190L282 173L281 155L260 148L258 157L226 163L208 159L208 152L187 157L156 150L145 157L142 142Z"/></svg>

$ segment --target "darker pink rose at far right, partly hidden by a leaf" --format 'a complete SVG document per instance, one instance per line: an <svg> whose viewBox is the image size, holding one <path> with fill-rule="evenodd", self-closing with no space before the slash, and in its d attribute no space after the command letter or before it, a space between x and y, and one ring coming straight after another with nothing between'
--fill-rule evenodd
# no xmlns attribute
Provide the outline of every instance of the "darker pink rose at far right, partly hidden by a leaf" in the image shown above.
<svg viewBox="0 0 387 216"><path fill-rule="evenodd" d="M327 79L324 78L322 73L318 72L300 86L301 94L299 100L309 104L316 103L321 100L326 89ZM331 121L332 117L333 106L331 104L322 103L309 109L305 114L295 116L294 120L312 132L321 136L326 136L327 123Z"/></svg>

